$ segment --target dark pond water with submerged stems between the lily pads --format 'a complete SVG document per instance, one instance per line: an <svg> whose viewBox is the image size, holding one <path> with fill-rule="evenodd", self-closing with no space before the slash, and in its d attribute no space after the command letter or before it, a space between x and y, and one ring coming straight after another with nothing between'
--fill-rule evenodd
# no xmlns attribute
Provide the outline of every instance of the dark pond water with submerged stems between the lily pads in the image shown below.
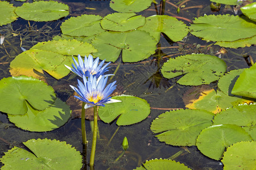
<svg viewBox="0 0 256 170"><path fill-rule="evenodd" d="M0 33L5 35L5 46L0 46L0 79L10 77L9 66L10 62L20 53L20 44L25 49L30 49L31 46L38 42L51 40L53 36L60 35L60 25L62 22L71 16L80 16L82 14L96 14L106 16L114 11L109 7L110 1L58 1L67 4L71 9L71 15L64 19L55 22L28 22L23 19L18 19L15 22L0 27ZM160 1L157 1L158 4ZM167 1L171 2L171 1ZM174 1L172 3L176 3ZM21 2L11 1L14 6L22 5ZM210 1L187 1L184 7L194 7L188 10L181 10L179 16L193 20L196 17L204 14L233 14L230 8L222 6L220 11L212 12L210 10ZM158 5L159 9L159 5ZM155 15L155 7L152 3L151 7L145 11L139 12L143 16ZM166 15L177 15L176 9L166 3ZM181 19L189 25L187 20ZM11 34L11 32L20 33L20 35ZM22 41L20 41L22 39ZM159 70L164 62L169 58L183 56L191 53L205 53L214 56L220 50L220 46L211 45L212 42L200 40L190 33L180 42L171 42L163 36L160 39L156 53L150 58L138 63L122 63L113 80L117 80L118 87L122 88L122 92L126 95L134 95L147 100L151 107L151 113L146 120L138 124L130 126L118 126L115 121L111 124L105 124L98 121L100 130L100 139L97 140L95 169L135 169L141 165L141 162L155 158L170 158L177 152L181 152L174 160L183 163L192 169L222 169L220 161L213 160L201 154L196 146L192 147L176 147L166 145L154 137L150 130L152 120L158 117L159 114L174 108L185 108L183 102L183 94L191 89L191 86L181 86L176 83L178 78L166 79L160 74ZM227 53L222 54L221 58L226 62L227 71L233 69L247 68L246 59L243 56L249 54L255 61L255 46L250 48L226 49ZM218 55L217 55L218 56ZM110 63L108 73L113 73L117 63ZM76 85L78 77L72 77L72 74L65 78L56 80L51 76L46 75L47 83L51 85L61 100L67 101L73 95L69 84ZM216 87L216 82L210 84L211 87ZM2 97L2 96L1 96ZM43 132L34 133L24 131L17 128L9 122L5 113L0 113L0 157L13 146L24 147L22 142L28 139L48 138L66 141L78 151L82 151L81 145L81 120L80 118L69 119L67 124L61 128ZM90 122L86 121L86 130L89 141L88 158L90 154L90 146L92 144L92 132L90 132ZM109 139L117 130L112 142L108 148L105 148ZM129 149L125 155L117 162L113 161L122 152L123 138L127 137L129 141ZM2 163L0 163L0 168Z"/></svg>

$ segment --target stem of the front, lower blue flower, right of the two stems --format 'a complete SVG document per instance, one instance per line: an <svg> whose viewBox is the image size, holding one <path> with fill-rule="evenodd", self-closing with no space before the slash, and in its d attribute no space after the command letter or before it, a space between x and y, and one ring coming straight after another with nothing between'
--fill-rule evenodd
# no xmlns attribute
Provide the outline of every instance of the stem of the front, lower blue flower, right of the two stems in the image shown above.
<svg viewBox="0 0 256 170"><path fill-rule="evenodd" d="M93 141L92 141L92 151L90 152L90 167L94 165L94 156L95 156L95 151L96 151L96 141L97 141L97 121L98 121L98 107L94 106L93 107L93 122L94 122L94 127L93 127Z"/></svg>

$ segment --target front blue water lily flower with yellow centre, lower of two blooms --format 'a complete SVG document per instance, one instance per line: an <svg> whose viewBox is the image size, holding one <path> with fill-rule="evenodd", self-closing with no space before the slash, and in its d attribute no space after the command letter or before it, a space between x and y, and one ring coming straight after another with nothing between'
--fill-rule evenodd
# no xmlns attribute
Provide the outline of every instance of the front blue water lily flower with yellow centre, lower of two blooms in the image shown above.
<svg viewBox="0 0 256 170"><path fill-rule="evenodd" d="M108 76L100 76L98 79L96 76L90 75L88 79L85 75L82 76L84 83L77 79L78 85L71 88L77 92L80 96L75 96L77 99L84 101L85 109L94 107L96 105L105 106L104 104L121 102L120 100L111 99L110 95L115 90L115 82L110 83L106 88L106 82Z"/></svg>

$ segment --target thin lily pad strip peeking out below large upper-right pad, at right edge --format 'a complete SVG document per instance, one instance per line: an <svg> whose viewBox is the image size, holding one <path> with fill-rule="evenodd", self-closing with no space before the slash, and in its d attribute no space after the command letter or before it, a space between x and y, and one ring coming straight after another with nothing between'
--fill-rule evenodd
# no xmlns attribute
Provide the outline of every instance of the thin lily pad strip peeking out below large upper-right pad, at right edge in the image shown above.
<svg viewBox="0 0 256 170"><path fill-rule="evenodd" d="M224 46L226 48L244 48L253 44L256 44L256 36L236 41L218 41L215 43L215 45Z"/></svg>

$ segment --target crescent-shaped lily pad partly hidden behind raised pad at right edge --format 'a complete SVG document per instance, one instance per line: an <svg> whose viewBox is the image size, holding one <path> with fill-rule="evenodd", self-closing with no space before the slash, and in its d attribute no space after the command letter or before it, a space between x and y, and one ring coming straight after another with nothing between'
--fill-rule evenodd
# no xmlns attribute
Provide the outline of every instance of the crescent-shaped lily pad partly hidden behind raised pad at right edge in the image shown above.
<svg viewBox="0 0 256 170"><path fill-rule="evenodd" d="M243 70L244 69L231 70L226 73L218 80L218 88L220 88L220 90L224 92L224 94L234 96L231 94L231 91L234 87L234 83L236 82L237 78Z"/></svg>

